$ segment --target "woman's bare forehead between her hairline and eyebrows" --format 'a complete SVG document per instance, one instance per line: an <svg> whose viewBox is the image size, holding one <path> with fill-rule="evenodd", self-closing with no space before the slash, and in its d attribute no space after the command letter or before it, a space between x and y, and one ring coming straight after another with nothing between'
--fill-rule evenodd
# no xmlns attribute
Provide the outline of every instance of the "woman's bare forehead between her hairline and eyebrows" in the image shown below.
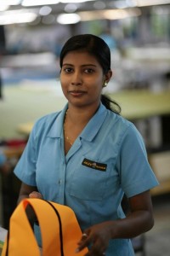
<svg viewBox="0 0 170 256"><path fill-rule="evenodd" d="M93 65L99 65L99 61L97 60L97 58L92 55L89 54L88 51L81 51L81 50L73 50L68 52L64 59L63 59L63 65L65 65L65 63L69 63L69 64L93 64Z"/></svg>

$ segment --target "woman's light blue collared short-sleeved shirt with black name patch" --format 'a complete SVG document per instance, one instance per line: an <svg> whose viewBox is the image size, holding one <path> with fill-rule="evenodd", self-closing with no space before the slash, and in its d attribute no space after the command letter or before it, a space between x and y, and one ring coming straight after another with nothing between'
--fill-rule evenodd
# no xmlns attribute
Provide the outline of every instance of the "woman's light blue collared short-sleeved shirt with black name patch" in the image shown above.
<svg viewBox="0 0 170 256"><path fill-rule="evenodd" d="M14 173L45 200L71 207L82 230L124 218L121 201L158 183L135 126L100 104L65 155L65 108L37 120ZM111 240L107 256L134 255L128 239Z"/></svg>

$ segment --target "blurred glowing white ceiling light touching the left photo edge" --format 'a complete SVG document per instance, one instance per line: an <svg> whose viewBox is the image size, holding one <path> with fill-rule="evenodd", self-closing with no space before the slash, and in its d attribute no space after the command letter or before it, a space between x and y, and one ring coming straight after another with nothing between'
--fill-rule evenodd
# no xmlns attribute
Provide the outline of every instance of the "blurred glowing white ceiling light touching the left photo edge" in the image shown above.
<svg viewBox="0 0 170 256"><path fill-rule="evenodd" d="M36 20L37 14L24 10L6 11L0 15L0 25L27 23Z"/></svg>

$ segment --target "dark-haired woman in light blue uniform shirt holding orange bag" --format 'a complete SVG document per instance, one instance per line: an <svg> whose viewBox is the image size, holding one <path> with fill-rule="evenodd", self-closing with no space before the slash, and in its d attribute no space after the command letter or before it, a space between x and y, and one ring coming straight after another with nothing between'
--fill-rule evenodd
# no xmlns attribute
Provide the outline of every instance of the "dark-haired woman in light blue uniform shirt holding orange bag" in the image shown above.
<svg viewBox="0 0 170 256"><path fill-rule="evenodd" d="M94 35L74 36L60 67L68 103L34 125L14 170L22 181L19 201L39 197L71 207L83 232L77 252L88 246L88 256L134 255L130 238L152 228L149 190L158 183L139 131L101 95L112 76L110 49Z"/></svg>

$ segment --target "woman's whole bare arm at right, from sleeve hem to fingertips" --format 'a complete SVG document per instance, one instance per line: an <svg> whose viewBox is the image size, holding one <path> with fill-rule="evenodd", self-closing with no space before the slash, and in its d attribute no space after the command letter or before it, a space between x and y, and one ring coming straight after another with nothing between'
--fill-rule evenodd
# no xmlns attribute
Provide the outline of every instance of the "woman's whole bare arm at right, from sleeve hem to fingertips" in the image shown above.
<svg viewBox="0 0 170 256"><path fill-rule="evenodd" d="M127 217L96 224L84 230L77 252L90 245L86 256L105 255L111 239L132 238L150 230L154 224L150 191L134 195L128 201L130 212Z"/></svg>

